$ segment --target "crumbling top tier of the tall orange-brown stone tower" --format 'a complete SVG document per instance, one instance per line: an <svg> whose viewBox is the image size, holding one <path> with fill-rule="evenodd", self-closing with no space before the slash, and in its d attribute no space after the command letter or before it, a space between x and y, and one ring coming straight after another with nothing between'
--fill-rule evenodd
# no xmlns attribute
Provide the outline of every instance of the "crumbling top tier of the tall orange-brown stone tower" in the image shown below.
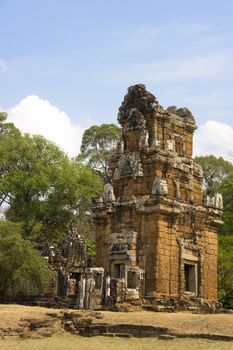
<svg viewBox="0 0 233 350"><path fill-rule="evenodd" d="M197 128L188 108L164 109L145 85L130 86L119 108L124 151L164 150L192 157L193 132Z"/></svg>

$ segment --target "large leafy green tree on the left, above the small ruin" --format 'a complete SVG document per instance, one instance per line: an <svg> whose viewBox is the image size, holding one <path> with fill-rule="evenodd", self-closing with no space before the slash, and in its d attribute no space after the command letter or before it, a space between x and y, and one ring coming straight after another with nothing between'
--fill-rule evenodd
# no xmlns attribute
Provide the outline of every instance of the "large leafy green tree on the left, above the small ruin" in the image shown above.
<svg viewBox="0 0 233 350"><path fill-rule="evenodd" d="M4 133L0 139L0 204L8 220L22 222L24 237L59 240L102 191L93 171L70 160L42 136Z"/></svg>

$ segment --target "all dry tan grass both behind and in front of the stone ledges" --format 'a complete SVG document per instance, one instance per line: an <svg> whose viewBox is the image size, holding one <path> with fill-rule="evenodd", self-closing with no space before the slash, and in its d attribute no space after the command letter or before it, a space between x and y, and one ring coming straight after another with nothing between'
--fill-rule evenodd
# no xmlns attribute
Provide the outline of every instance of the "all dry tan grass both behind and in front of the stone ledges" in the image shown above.
<svg viewBox="0 0 233 350"><path fill-rule="evenodd" d="M62 314L65 310L29 307L21 305L0 305L0 329L17 328L22 319L51 319L47 313ZM101 312L103 319L94 322L111 324L143 324L167 327L175 333L206 333L233 335L233 315L231 314L192 314L190 312L155 313L138 312ZM233 350L233 342L205 339L174 339L171 341L138 338L83 338L64 333L61 327L51 338L6 337L0 340L0 350Z"/></svg>

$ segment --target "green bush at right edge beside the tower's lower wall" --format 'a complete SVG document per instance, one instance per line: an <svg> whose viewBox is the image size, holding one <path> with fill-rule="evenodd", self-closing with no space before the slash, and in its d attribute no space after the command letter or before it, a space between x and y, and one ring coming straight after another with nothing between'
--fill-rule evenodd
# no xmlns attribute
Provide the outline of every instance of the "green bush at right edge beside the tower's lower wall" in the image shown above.
<svg viewBox="0 0 233 350"><path fill-rule="evenodd" d="M218 298L225 308L233 308L233 236L219 237Z"/></svg>

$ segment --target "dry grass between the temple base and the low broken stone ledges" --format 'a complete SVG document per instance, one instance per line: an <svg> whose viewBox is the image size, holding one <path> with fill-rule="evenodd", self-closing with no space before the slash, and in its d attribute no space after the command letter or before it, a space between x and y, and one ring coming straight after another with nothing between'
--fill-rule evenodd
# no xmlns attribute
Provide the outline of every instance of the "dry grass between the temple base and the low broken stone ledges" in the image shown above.
<svg viewBox="0 0 233 350"><path fill-rule="evenodd" d="M47 313L59 313L58 309L0 304L0 328L17 327L22 318L49 318ZM144 324L167 327L176 333L207 333L233 335L233 314L192 314L190 312L156 313L138 312L101 312L100 323Z"/></svg>

